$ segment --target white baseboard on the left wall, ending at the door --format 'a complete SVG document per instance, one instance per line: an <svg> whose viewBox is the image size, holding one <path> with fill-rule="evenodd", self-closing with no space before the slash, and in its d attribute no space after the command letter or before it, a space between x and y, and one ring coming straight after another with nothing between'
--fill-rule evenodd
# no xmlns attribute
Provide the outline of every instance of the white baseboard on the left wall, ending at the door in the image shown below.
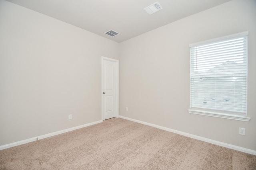
<svg viewBox="0 0 256 170"><path fill-rule="evenodd" d="M10 148L10 147L15 147L15 146L22 145L22 144L29 143L29 142L33 142L33 141L37 141L39 139L44 139L44 138L47 138L47 137L52 137L52 136L55 136L55 135L59 135L61 133L66 133L66 132L69 132L69 131L74 131L76 129L80 129L80 128L83 128L83 127L86 127L86 126L90 126L90 125L94 125L94 124L101 123L101 122L102 122L102 120L95 121L95 122L92 122L92 123L87 123L87 124L84 124L84 125L80 125L80 126L64 129L64 130L61 130L61 131L56 131L56 132L53 132L53 133L48 133L48 134L41 135L41 136L38 136L38 137L32 137L30 139L25 139L25 140L22 140L22 141L18 141L18 142L2 145L2 146L0 146L0 150L7 149L7 148Z"/></svg>

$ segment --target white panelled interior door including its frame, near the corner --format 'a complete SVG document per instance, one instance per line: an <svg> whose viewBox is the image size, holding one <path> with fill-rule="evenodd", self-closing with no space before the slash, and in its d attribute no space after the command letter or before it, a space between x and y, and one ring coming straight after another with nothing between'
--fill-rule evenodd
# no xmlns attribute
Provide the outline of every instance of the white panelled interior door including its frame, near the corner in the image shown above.
<svg viewBox="0 0 256 170"><path fill-rule="evenodd" d="M102 57L102 117L118 115L118 61Z"/></svg>

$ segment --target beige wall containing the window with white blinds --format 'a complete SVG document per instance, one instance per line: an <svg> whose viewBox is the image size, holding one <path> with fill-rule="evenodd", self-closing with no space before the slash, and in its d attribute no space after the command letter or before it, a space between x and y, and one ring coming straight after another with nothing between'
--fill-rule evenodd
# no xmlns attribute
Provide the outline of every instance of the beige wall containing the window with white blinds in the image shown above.
<svg viewBox="0 0 256 170"><path fill-rule="evenodd" d="M233 0L121 43L119 114L256 150L255 9L255 0ZM249 31L248 116L251 120L188 113L188 45L242 31ZM239 127L246 128L246 136L238 134Z"/></svg>

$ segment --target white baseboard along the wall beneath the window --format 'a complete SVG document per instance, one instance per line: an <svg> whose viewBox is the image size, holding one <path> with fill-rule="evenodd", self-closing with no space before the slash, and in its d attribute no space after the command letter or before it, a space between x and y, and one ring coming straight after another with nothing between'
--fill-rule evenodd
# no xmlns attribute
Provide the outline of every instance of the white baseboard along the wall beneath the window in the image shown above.
<svg viewBox="0 0 256 170"><path fill-rule="evenodd" d="M177 130L170 129L170 128L167 128L167 127L163 127L163 126L159 126L159 125L154 125L152 123L147 123L147 122L144 122L144 121L139 121L139 120L136 120L136 119L131 119L131 118L120 116L120 115L118 117L120 117L122 119L130 120L130 121L134 121L134 122L137 122L137 123L141 123L141 124L144 124L144 125L156 127L158 129L162 129L162 130L169 131L169 132L172 132L172 133L177 133L179 135L183 135L183 136L190 137L190 138L193 138L193 139L197 139L197 140L200 140L200 141L204 141L204 142L207 142L207 143L212 143L214 145L219 145L221 147L226 147L226 148L229 148L229 149L234 149L234 150L238 150L238 151L245 152L245 153L248 153L248 154L256 155L256 150L246 149L246 148L238 147L238 146L235 146L235 145L230 145L228 143L214 141L212 139L200 137L200 136L197 136L197 135L192 135L190 133L185 133L185 132L182 132L182 131L177 131Z"/></svg>

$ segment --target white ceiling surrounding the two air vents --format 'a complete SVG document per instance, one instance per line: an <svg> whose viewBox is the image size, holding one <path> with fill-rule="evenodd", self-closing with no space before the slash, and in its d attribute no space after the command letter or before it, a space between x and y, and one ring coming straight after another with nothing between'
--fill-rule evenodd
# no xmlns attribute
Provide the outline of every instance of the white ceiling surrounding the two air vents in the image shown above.
<svg viewBox="0 0 256 170"><path fill-rule="evenodd" d="M118 43L230 0L7 0ZM159 2L162 10L144 8ZM120 35L105 35L110 29Z"/></svg>

